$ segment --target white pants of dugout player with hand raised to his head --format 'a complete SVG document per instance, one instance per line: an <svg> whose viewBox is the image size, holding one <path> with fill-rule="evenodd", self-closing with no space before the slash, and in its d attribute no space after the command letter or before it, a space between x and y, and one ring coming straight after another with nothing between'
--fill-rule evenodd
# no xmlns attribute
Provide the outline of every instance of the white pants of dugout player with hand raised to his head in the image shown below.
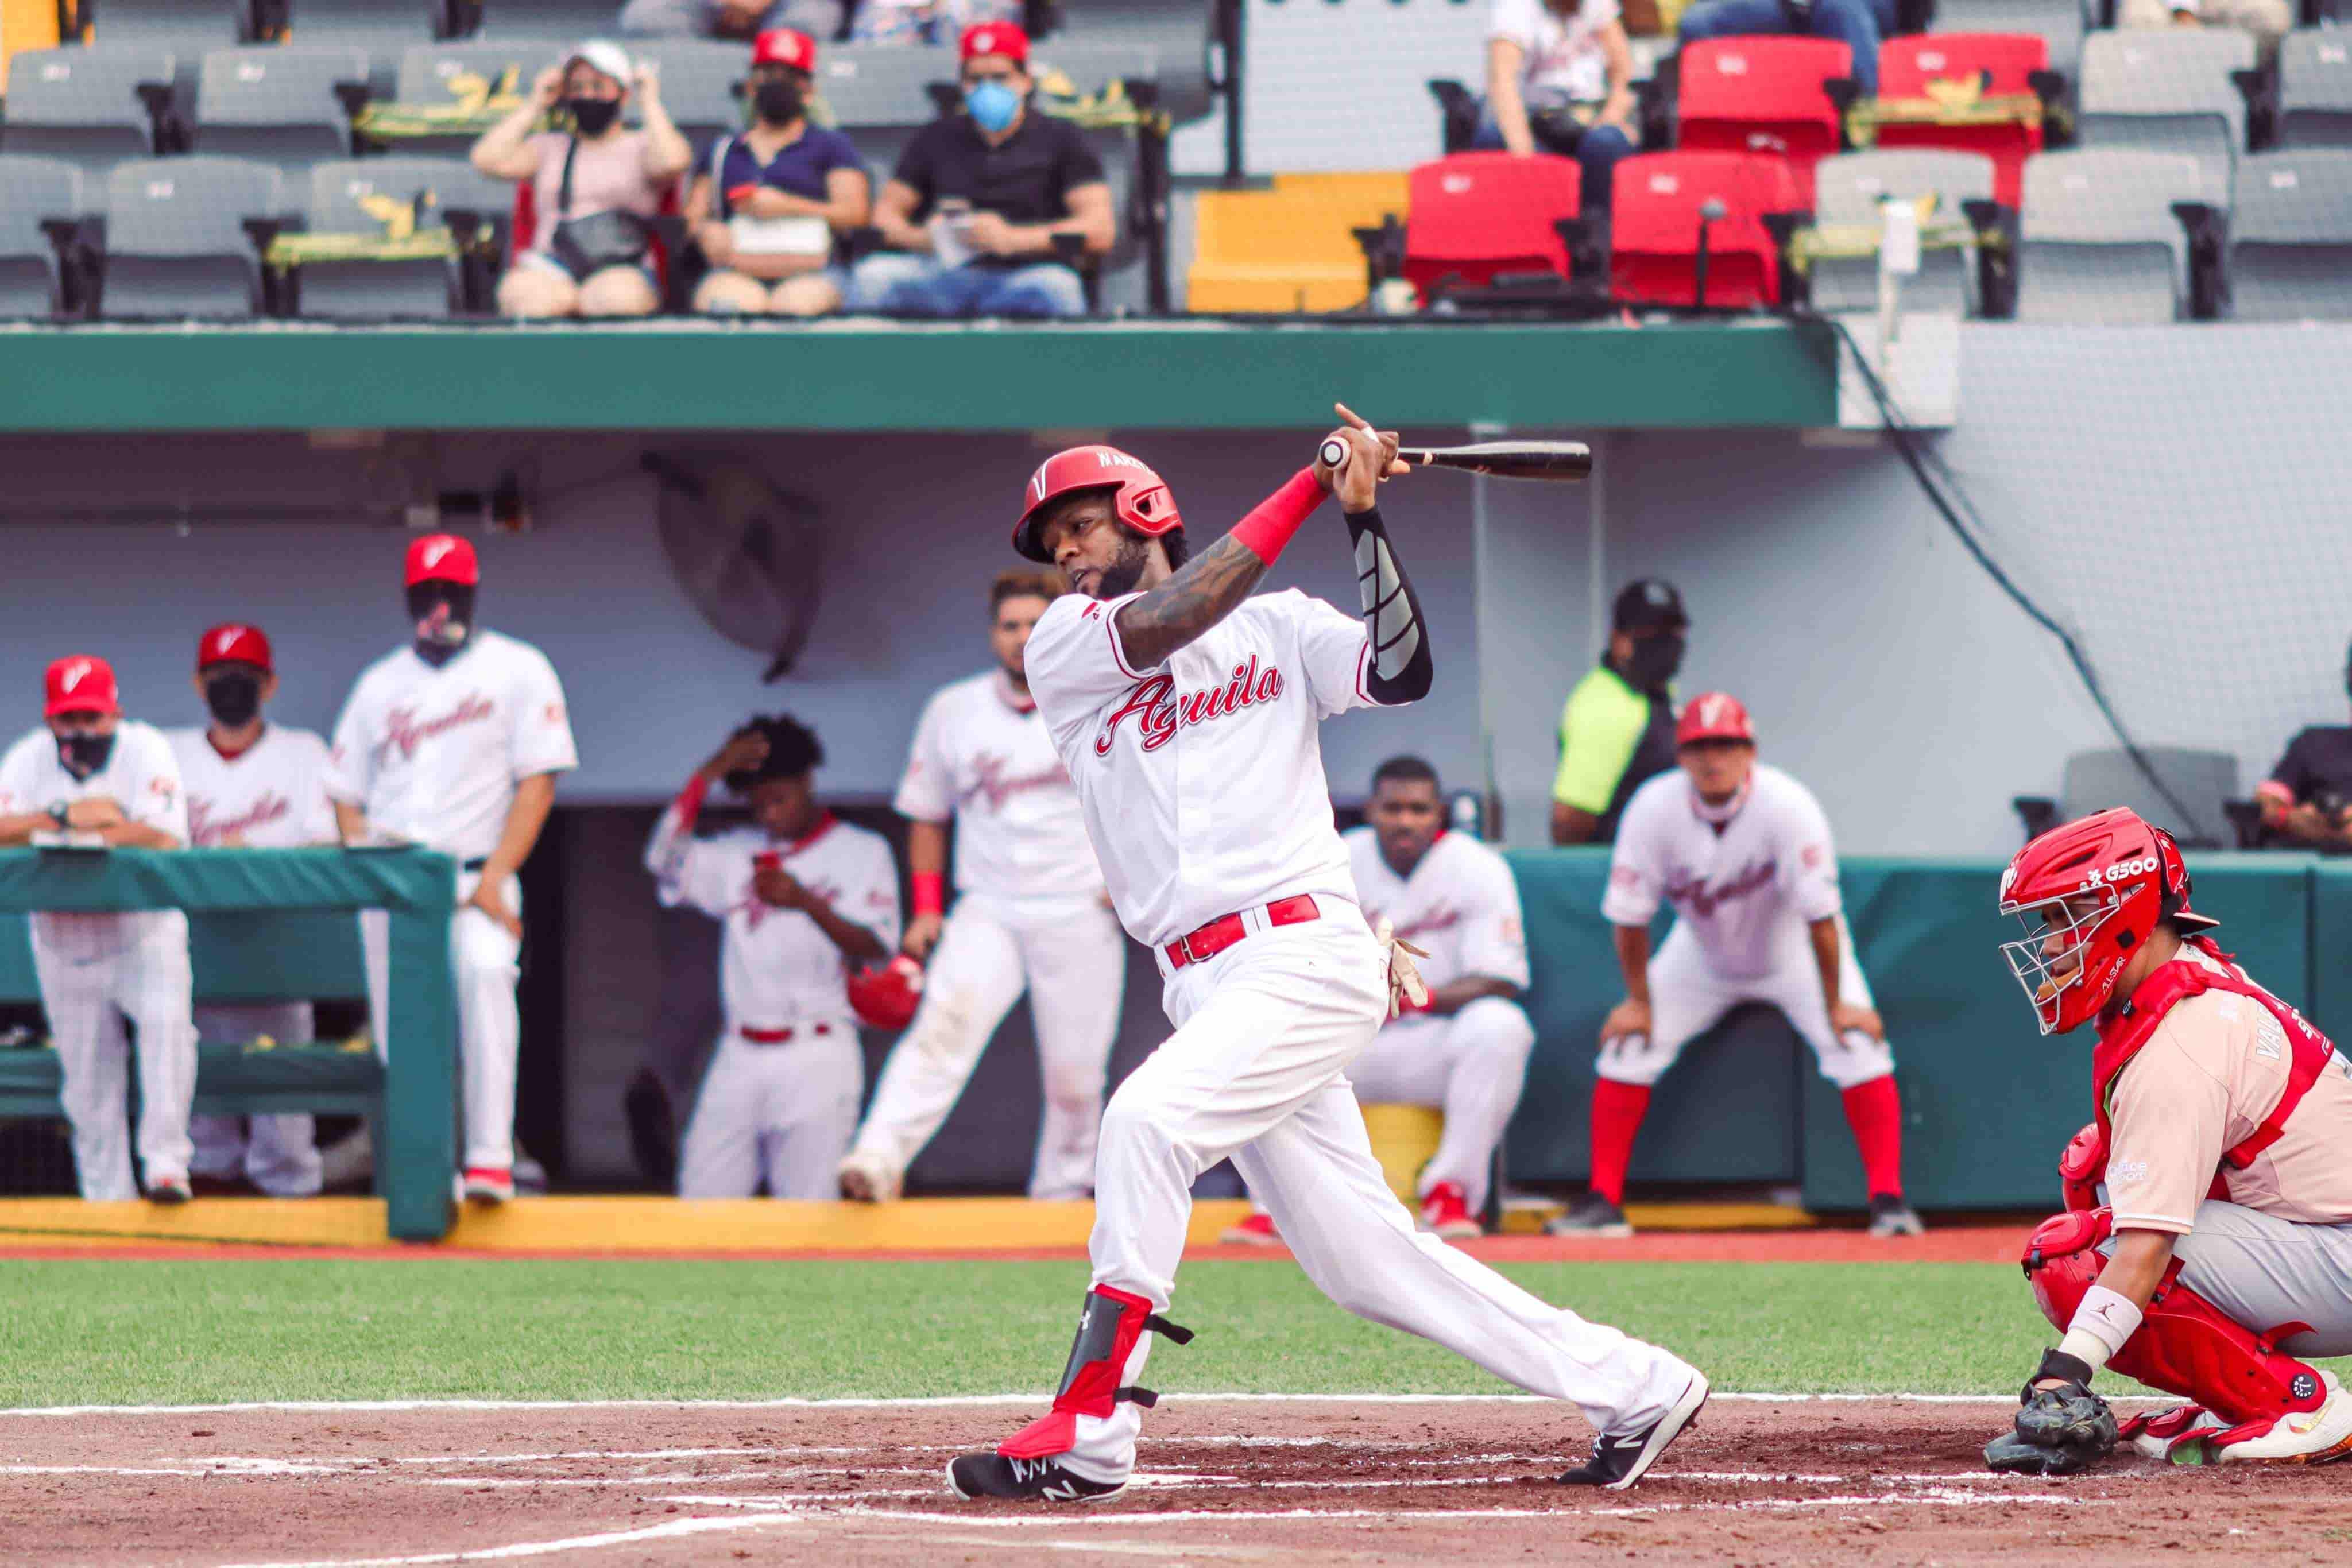
<svg viewBox="0 0 2352 1568"><path fill-rule="evenodd" d="M677 1197L748 1199L762 1175L769 1197L840 1197L835 1166L858 1124L866 1053L854 1018L800 1030L774 1046L734 1025L720 1034L677 1152Z"/></svg>

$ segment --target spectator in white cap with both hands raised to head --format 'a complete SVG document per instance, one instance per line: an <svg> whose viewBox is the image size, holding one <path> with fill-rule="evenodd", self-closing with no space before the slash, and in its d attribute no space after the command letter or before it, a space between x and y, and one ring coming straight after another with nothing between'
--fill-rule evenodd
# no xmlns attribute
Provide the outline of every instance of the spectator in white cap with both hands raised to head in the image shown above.
<svg viewBox="0 0 2352 1568"><path fill-rule="evenodd" d="M635 92L644 129L621 127ZM569 132L534 129L562 108ZM532 101L473 143L473 167L492 179L532 181L532 249L499 280L501 315L652 315L654 228L670 183L694 162L694 148L661 108L649 66L630 66L621 45L602 38L576 47L532 82Z"/></svg>

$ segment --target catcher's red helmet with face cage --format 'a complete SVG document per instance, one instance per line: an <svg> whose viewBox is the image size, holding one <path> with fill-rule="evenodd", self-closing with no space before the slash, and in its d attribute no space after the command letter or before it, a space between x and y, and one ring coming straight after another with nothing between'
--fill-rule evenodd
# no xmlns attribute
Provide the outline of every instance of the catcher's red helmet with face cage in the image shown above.
<svg viewBox="0 0 2352 1568"><path fill-rule="evenodd" d="M2002 957L2044 1034L2098 1018L2159 919L2185 931L2220 924L2190 912L2190 867L2173 835L2124 806L2051 827L2020 849L2002 872L2002 914L2025 924L2025 940L2002 943Z"/></svg>

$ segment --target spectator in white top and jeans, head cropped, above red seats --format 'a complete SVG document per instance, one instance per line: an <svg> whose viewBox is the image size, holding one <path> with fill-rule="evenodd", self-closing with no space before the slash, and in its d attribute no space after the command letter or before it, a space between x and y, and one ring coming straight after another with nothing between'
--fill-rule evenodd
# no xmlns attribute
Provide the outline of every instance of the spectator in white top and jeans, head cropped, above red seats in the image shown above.
<svg viewBox="0 0 2352 1568"><path fill-rule="evenodd" d="M1477 148L1557 153L1583 172L1583 212L1609 212L1635 150L1632 45L1618 0L1494 0Z"/></svg>

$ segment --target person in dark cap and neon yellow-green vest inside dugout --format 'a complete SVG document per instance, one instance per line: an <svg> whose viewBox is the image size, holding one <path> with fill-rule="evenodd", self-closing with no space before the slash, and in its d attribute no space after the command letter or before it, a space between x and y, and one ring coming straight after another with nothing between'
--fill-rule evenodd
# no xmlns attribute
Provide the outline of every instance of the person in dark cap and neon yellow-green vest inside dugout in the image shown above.
<svg viewBox="0 0 2352 1568"><path fill-rule="evenodd" d="M1609 623L1609 651L1559 712L1552 844L1613 844L1632 792L1675 766L1670 682L1691 625L1682 595L1665 578L1635 578Z"/></svg>

